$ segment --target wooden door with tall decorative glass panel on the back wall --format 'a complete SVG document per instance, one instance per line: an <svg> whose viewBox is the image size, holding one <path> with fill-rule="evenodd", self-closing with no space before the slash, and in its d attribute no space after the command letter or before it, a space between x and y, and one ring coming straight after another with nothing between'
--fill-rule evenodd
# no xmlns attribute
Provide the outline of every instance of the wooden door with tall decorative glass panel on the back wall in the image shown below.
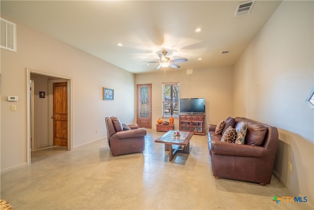
<svg viewBox="0 0 314 210"><path fill-rule="evenodd" d="M152 128L152 84L136 85L136 123Z"/></svg>

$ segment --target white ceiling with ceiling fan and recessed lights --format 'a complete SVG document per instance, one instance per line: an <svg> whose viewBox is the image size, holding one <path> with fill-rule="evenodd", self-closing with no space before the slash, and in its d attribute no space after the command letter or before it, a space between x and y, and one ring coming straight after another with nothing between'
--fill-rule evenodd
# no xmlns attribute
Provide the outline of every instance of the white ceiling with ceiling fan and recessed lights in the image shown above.
<svg viewBox="0 0 314 210"><path fill-rule="evenodd" d="M23 23L132 73L155 70L166 49L185 70L229 66L262 29L281 1L257 0L251 13L234 17L246 0L5 1L1 17ZM198 27L201 33L195 33ZM122 43L123 47L116 44ZM230 50L228 55L220 55ZM202 58L203 60L197 60ZM162 68L161 68L162 69Z"/></svg>

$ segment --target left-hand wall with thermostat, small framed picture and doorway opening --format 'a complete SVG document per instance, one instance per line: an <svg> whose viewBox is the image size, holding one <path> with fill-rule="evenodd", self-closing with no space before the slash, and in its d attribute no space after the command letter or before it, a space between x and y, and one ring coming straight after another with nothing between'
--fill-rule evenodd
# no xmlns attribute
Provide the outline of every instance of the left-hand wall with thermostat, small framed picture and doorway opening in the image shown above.
<svg viewBox="0 0 314 210"><path fill-rule="evenodd" d="M17 53L1 49L1 173L26 163L26 67L72 78L74 147L104 138L106 116L135 122L132 73L17 23ZM103 87L114 89L113 101L103 100Z"/></svg>

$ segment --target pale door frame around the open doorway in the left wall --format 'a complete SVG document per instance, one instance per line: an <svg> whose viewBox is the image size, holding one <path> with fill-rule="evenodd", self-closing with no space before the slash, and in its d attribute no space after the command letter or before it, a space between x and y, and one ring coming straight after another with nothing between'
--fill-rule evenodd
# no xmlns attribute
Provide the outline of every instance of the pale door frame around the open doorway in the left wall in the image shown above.
<svg viewBox="0 0 314 210"><path fill-rule="evenodd" d="M31 164L31 149L30 149L30 139L31 139L31 119L30 119L30 74L39 74L48 77L60 78L68 82L68 150L73 150L73 119L72 119L72 78L47 74L39 71L34 71L26 68L26 155L27 155L27 165ZM47 113L48 115L49 113Z"/></svg>

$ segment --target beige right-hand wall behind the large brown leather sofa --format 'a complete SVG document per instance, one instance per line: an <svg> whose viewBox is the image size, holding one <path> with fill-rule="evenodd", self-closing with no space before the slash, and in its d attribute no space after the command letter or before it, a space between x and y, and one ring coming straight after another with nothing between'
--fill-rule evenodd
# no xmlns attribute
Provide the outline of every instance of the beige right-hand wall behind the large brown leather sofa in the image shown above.
<svg viewBox="0 0 314 210"><path fill-rule="evenodd" d="M237 116L279 129L277 177L314 206L313 1L283 1L235 65ZM288 162L292 171L288 171Z"/></svg>

